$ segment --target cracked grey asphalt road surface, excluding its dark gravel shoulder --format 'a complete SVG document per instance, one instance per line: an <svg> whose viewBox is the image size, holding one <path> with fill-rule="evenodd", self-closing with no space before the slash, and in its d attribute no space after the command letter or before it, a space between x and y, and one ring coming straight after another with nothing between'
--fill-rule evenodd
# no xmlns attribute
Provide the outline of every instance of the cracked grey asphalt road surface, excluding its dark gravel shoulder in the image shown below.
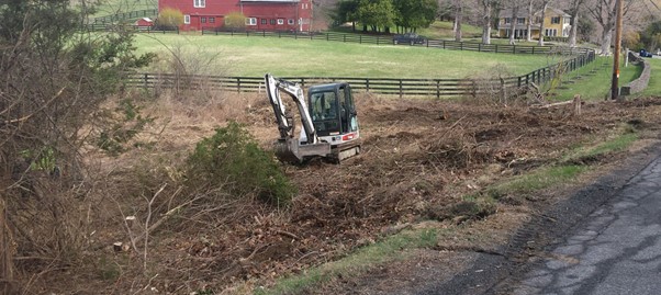
<svg viewBox="0 0 661 295"><path fill-rule="evenodd" d="M538 264L513 294L661 294L661 158Z"/></svg>

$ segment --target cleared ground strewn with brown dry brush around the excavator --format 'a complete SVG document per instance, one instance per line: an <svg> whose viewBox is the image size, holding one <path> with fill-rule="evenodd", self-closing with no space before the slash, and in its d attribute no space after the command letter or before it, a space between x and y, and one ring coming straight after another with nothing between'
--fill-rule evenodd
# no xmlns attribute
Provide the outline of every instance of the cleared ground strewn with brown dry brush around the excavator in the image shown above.
<svg viewBox="0 0 661 295"><path fill-rule="evenodd" d="M167 98L145 109L156 117L169 114L154 129L169 125L150 148L103 158L112 202L97 220L97 248L83 259L81 280L108 292L248 292L246 281L268 284L340 258L396 225L484 218L506 204L477 208L463 196L553 164L569 146L605 136L619 123L656 122L646 116L651 107L637 103L586 104L582 116L572 116L570 110L360 95L363 154L339 166L283 166L298 193L289 206L278 206L256 191L236 191L237 180L209 181L183 169L195 143L235 117L236 109L224 105L243 100L250 103L243 104L240 123L268 147L277 131L270 105L257 94L225 93L186 114L164 110L181 106ZM126 222L130 216L135 219ZM115 252L115 241L128 249Z"/></svg>

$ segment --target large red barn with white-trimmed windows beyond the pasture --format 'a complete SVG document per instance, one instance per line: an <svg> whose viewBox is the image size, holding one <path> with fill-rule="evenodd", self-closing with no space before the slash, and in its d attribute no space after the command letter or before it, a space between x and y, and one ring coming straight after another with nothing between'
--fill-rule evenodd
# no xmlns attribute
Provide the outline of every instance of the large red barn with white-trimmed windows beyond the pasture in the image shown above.
<svg viewBox="0 0 661 295"><path fill-rule="evenodd" d="M312 0L158 0L158 10L183 13L181 30L222 27L232 12L246 16L247 30L307 32L312 25Z"/></svg>

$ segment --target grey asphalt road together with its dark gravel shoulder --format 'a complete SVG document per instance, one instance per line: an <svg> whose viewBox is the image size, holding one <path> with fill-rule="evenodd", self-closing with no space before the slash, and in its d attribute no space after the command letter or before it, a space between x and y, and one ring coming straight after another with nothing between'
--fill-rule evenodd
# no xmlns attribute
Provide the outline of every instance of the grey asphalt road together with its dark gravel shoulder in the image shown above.
<svg viewBox="0 0 661 295"><path fill-rule="evenodd" d="M661 146L472 256L473 266L406 294L661 294Z"/></svg>

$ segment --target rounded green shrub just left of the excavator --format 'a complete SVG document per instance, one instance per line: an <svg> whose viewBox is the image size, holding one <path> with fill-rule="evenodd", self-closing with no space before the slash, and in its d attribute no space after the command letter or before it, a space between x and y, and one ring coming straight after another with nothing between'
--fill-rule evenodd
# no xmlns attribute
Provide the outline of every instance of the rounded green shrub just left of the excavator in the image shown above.
<svg viewBox="0 0 661 295"><path fill-rule="evenodd" d="M256 194L275 205L287 205L296 192L272 155L236 122L198 143L188 164L193 185L229 182L233 194Z"/></svg>

